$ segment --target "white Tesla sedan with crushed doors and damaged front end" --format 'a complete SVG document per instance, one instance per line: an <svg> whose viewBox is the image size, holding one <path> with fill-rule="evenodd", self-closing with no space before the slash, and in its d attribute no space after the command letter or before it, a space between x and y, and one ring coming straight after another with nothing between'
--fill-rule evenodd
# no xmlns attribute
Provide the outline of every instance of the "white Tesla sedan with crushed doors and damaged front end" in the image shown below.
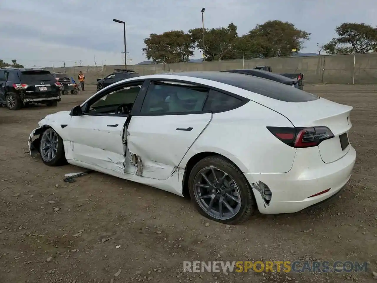
<svg viewBox="0 0 377 283"><path fill-rule="evenodd" d="M256 209L297 212L339 192L356 160L351 109L242 74L145 75L47 115L28 144L46 165L190 196L205 217L236 224Z"/></svg>

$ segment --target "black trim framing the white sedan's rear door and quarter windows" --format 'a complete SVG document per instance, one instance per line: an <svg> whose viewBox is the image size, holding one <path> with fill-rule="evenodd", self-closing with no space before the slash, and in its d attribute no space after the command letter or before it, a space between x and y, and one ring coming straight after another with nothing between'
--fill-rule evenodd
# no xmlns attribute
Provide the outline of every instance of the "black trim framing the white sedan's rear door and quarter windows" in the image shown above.
<svg viewBox="0 0 377 283"><path fill-rule="evenodd" d="M169 112L169 113L146 113L146 114L142 114L141 113L141 107L143 106L143 103L144 103L144 100L145 100L145 97L146 97L146 94L148 92L148 89L150 88L150 86L152 85L152 83L154 82L177 82L177 83L187 83L187 84L190 84L190 85L195 85L195 86L200 86L200 87L203 87L203 88L207 88L208 89L208 92L207 92L207 97L205 98L205 101L204 101L204 104L203 104L203 107L205 105L205 103L207 102L207 99L208 99L208 94L210 92L210 90L214 90L214 91L218 91L218 92L221 92L223 94L226 94L226 95L229 95L231 97L234 97L234 98L238 98L240 100L240 103L236 104L235 106L233 107L230 107L230 108L227 108L227 109L224 109L224 110L218 110L218 111L211 111L211 110L207 110L207 111L188 111L188 112ZM184 85L182 85L184 86ZM143 85L144 87L144 85ZM140 94L140 93L139 93ZM227 112L227 111L231 111L233 109L236 109L236 108L239 108L243 105L245 105L247 102L250 101L250 99L246 98L246 97L242 97L241 95L238 95L238 94L234 94L232 92L228 92L228 91L225 91L224 89L219 89L219 88L215 88L215 87L212 87L212 86L208 86L208 85L205 85L205 84L202 84L202 83L196 83L196 82L191 82L191 81L187 81L187 80L177 80L177 79L172 79L172 78L153 78L153 79L150 79L149 80L149 84L148 84L148 87L146 89L146 91L143 93L144 97L143 97L143 100L142 100L142 103L141 105L138 105L138 108L135 108L135 103L134 103L134 107L132 108L132 110L134 110L135 108L135 111L131 111L131 115L132 116L167 116L167 115L193 115L193 114L205 114L205 113L212 113L212 114L215 114L215 113L220 113L220 112ZM138 100L139 98L139 95L138 97L136 98L136 100ZM141 97L140 97L141 98ZM135 102L136 102L135 100Z"/></svg>

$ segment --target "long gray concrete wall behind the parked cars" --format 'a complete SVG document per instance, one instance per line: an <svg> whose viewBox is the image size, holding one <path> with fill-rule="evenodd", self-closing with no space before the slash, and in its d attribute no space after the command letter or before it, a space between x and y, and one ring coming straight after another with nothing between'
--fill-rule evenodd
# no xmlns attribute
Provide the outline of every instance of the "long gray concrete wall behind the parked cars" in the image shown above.
<svg viewBox="0 0 377 283"><path fill-rule="evenodd" d="M304 74L305 83L352 83L354 74L354 55L319 55L303 57L280 57L264 59L246 59L245 69L256 66L271 66L276 73ZM97 78L102 78L124 66L76 66L67 67L66 73L70 77L77 77L83 71L86 83L96 83ZM242 69L242 60L225 60L198 63L171 63L150 65L129 65L141 75L184 72L184 71L223 71L229 69ZM52 71L52 68L46 68ZM55 72L64 72L63 68L55 68ZM356 54L355 83L377 83L377 53Z"/></svg>

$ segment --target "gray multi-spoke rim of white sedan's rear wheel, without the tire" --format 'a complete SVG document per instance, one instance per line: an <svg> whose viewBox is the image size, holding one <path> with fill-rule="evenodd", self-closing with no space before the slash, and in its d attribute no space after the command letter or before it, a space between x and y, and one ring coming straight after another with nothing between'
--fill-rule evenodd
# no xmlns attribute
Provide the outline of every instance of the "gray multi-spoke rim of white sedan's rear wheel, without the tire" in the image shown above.
<svg viewBox="0 0 377 283"><path fill-rule="evenodd" d="M228 220L238 214L242 201L234 179L216 166L201 169L194 178L194 195L209 216Z"/></svg>

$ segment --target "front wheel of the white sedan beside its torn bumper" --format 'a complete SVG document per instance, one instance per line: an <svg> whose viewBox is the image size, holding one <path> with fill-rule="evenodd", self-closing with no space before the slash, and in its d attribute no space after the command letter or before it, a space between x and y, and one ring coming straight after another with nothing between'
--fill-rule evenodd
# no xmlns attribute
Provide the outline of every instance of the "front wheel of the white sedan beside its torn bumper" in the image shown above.
<svg viewBox="0 0 377 283"><path fill-rule="evenodd" d="M66 163L62 138L52 128L47 128L40 136L39 152L44 164L59 166Z"/></svg>

